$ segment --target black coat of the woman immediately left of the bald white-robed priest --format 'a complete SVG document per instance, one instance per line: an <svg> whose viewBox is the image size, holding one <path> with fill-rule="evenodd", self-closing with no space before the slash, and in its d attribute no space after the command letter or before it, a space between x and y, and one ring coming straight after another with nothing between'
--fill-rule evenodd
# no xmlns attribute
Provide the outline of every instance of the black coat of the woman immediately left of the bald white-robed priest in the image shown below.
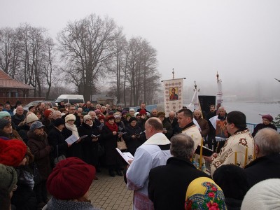
<svg viewBox="0 0 280 210"><path fill-rule="evenodd" d="M139 146L141 146L145 141L145 134L140 134L142 132L141 127L131 125L127 125L125 128L127 134L123 135L123 139L125 140L125 144L127 144L127 152L132 153L134 155L135 151ZM132 139L132 136L135 134L140 134L137 138Z"/></svg>

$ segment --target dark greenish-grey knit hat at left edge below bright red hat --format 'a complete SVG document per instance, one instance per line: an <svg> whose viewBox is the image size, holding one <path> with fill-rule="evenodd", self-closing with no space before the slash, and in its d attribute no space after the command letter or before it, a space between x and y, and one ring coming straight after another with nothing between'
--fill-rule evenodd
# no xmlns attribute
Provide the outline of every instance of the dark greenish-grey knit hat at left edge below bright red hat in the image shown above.
<svg viewBox="0 0 280 210"><path fill-rule="evenodd" d="M0 188L7 189L10 193L17 182L18 174L15 172L15 169L13 169L13 167L0 164Z"/></svg>

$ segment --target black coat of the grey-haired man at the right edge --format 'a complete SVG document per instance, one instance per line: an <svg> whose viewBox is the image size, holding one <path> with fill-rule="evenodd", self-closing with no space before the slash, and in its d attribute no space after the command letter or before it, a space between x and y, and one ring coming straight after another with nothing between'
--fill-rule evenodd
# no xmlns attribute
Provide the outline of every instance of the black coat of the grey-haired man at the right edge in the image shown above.
<svg viewBox="0 0 280 210"><path fill-rule="evenodd" d="M244 171L250 188L265 179L280 179L280 154L276 153L257 158L246 165Z"/></svg>

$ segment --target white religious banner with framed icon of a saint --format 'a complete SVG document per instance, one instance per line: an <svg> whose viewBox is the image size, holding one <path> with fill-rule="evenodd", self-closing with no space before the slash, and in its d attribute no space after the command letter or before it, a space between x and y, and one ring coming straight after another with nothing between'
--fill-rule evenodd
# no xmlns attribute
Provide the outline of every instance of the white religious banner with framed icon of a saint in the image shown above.
<svg viewBox="0 0 280 210"><path fill-rule="evenodd" d="M183 108L183 78L164 80L165 114L168 117L170 111L179 111Z"/></svg>

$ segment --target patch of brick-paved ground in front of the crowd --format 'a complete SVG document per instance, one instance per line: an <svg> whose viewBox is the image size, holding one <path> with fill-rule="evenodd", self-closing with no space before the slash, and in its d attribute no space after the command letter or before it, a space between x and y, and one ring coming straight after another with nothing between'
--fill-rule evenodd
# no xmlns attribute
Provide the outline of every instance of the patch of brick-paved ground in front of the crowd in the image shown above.
<svg viewBox="0 0 280 210"><path fill-rule="evenodd" d="M99 209L132 209L133 191L127 190L123 176L111 177L102 168L90 188L90 200Z"/></svg>

